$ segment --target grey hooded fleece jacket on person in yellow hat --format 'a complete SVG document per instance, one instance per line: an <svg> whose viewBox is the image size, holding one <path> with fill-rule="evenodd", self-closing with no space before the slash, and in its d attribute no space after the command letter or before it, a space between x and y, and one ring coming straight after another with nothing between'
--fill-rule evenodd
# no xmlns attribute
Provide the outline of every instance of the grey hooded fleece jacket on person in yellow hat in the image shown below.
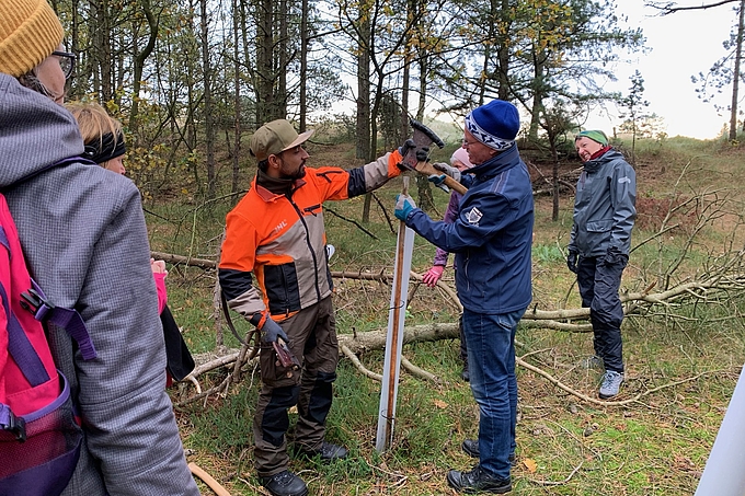
<svg viewBox="0 0 745 496"><path fill-rule="evenodd" d="M83 361L50 330L85 440L64 495L198 495L165 393L165 351L139 192L98 165L55 166L83 151L72 115L0 74L0 189L32 275L76 308L99 353Z"/></svg>

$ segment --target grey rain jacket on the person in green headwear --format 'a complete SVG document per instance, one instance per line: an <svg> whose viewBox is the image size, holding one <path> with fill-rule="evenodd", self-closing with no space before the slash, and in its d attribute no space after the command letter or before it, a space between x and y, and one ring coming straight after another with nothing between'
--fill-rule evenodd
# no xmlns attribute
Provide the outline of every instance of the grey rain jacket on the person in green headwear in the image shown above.
<svg viewBox="0 0 745 496"><path fill-rule="evenodd" d="M629 254L637 218L637 173L621 152L610 149L585 162L574 198L569 250L584 257L609 249Z"/></svg>

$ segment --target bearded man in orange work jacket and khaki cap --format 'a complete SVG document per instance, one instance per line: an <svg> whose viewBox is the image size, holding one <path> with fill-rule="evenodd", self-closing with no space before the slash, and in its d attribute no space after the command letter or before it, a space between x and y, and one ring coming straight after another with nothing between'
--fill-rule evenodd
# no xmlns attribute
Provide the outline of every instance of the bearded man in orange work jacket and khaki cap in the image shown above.
<svg viewBox="0 0 745 496"><path fill-rule="evenodd" d="M288 408L297 405L295 446L310 457L334 461L346 448L324 440L336 379L339 343L331 302L322 205L376 189L400 174L413 141L375 162L346 171L306 168L298 134L284 119L256 130L251 154L259 168L251 189L228 214L219 278L228 305L262 334L262 389L253 419L254 460L262 484L275 496L308 494L306 483L288 470L285 432ZM252 284L255 276L259 289ZM285 368L273 351L284 341L300 360Z"/></svg>

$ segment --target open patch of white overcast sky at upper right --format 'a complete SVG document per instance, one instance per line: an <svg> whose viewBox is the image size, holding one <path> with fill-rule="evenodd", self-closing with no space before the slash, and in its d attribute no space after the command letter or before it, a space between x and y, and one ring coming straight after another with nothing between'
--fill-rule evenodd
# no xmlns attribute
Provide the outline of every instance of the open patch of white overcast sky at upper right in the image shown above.
<svg viewBox="0 0 745 496"><path fill-rule="evenodd" d="M655 11L644 7L644 0L617 0L618 12L629 16L631 27L641 27L646 45L652 48L647 55L633 55L630 64L620 64L618 81L608 86L610 91L629 94L635 69L644 79L644 100L650 102L649 113L656 113L665 119L668 136L689 136L709 139L720 135L722 126L729 123L729 112L717 114L714 105L698 99L690 77L707 72L724 56L722 42L729 38L731 26L737 21L732 4L713 9L684 11L664 18L655 16ZM679 0L680 5L694 5L699 0ZM732 86L727 86L718 102L726 106L732 97ZM741 90L745 90L741 84ZM616 115L594 116L586 127L597 127L607 132L618 126Z"/></svg>

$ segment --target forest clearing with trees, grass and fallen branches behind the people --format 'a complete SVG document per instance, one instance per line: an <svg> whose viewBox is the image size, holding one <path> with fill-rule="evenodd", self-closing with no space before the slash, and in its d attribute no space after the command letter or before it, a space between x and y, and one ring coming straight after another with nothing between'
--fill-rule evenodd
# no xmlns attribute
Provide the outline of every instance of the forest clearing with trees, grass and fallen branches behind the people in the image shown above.
<svg viewBox="0 0 745 496"><path fill-rule="evenodd" d="M730 125L701 142L665 135L646 112L642 74L626 93L604 91L615 62L646 49L612 1L53 1L78 59L69 99L101 102L125 124L127 175L142 192L152 250L171 264L170 305L199 362L222 361L195 379L202 394L188 382L172 391L190 460L234 494L262 494L251 469L256 370L232 367L240 346L222 333L213 269L225 214L255 173L253 130L289 118L317 130L309 165L352 168L401 145L415 117L446 140L433 160L447 161L462 136L457 123L500 97L524 117L519 147L537 201L535 307L518 335L515 493L691 493L745 358L743 3L724 2L736 7L733 26L721 26L732 28L730 51L700 74L703 97L732 93ZM351 112L329 112L339 102ZM594 397L599 376L577 365L592 345L564 267L581 166L572 136L601 105L624 108L607 131L640 177L623 282L630 373L616 404ZM440 216L447 196L424 177L413 187L417 205ZM457 379L459 308L447 276L433 291L412 275L404 354L420 368L400 385L393 447L371 446L380 384L368 372L382 366L400 189L397 181L326 206L339 331L351 351L329 435L354 457L294 461L317 494L449 494L445 471L472 463L459 443L475 435L478 408ZM413 270L433 252L417 240Z"/></svg>

